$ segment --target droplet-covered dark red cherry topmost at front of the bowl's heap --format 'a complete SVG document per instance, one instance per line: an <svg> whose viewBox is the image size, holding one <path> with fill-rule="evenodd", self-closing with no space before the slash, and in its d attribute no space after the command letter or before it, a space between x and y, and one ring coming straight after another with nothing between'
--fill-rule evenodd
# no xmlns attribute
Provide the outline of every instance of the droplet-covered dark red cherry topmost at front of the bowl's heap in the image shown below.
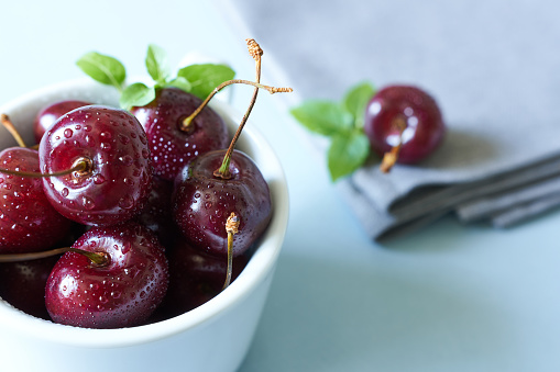
<svg viewBox="0 0 560 372"><path fill-rule="evenodd" d="M130 113L99 105L70 111L41 140L43 173L88 159L91 171L43 179L45 193L64 216L89 226L125 222L142 211L152 185L147 139Z"/></svg>

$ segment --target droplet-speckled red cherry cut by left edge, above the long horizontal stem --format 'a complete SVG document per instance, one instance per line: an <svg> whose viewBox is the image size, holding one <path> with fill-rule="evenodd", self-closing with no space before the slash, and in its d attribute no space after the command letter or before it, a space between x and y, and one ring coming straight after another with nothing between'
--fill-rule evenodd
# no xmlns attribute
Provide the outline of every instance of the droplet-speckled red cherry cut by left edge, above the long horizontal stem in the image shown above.
<svg viewBox="0 0 560 372"><path fill-rule="evenodd" d="M39 153L24 147L4 149L0 168L39 173ZM48 202L41 179L0 172L0 253L48 249L70 226Z"/></svg>

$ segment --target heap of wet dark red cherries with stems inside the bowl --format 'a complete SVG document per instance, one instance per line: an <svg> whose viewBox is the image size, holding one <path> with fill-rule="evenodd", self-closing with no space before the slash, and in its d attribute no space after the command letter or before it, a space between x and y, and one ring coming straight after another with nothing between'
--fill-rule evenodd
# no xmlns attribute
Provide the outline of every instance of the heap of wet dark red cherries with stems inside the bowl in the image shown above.
<svg viewBox="0 0 560 372"><path fill-rule="evenodd" d="M259 83L262 50L248 45L257 81L244 81L255 93L231 143L208 100L173 87L130 111L55 102L35 120L39 147L2 115L20 145L0 153L3 300L55 323L120 328L229 285L272 215L261 171L233 147L256 91L289 91Z"/></svg>

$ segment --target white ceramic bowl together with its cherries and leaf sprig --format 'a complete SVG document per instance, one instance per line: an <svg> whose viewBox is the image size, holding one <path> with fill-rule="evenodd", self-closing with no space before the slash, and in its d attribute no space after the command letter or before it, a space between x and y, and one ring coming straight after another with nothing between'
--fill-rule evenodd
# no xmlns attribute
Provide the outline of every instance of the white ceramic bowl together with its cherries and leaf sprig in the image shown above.
<svg viewBox="0 0 560 372"><path fill-rule="evenodd" d="M243 127L257 90L289 89L260 83L248 45L256 81L207 100L185 78L207 66L168 79L151 46L153 88L77 80L0 105L2 370L239 367L288 219L282 166ZM81 60L105 82L99 61L123 83ZM230 83L255 89L244 114L209 100Z"/></svg>

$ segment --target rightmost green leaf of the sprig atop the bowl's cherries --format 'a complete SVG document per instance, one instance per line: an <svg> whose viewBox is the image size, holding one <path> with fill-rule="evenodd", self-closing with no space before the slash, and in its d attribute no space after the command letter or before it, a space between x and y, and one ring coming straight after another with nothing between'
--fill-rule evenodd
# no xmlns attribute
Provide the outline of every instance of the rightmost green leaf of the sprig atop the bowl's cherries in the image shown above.
<svg viewBox="0 0 560 372"><path fill-rule="evenodd" d="M190 65L177 72L177 77L190 81L190 93L200 99L207 98L216 87L234 76L235 72L230 67L215 64Z"/></svg>

